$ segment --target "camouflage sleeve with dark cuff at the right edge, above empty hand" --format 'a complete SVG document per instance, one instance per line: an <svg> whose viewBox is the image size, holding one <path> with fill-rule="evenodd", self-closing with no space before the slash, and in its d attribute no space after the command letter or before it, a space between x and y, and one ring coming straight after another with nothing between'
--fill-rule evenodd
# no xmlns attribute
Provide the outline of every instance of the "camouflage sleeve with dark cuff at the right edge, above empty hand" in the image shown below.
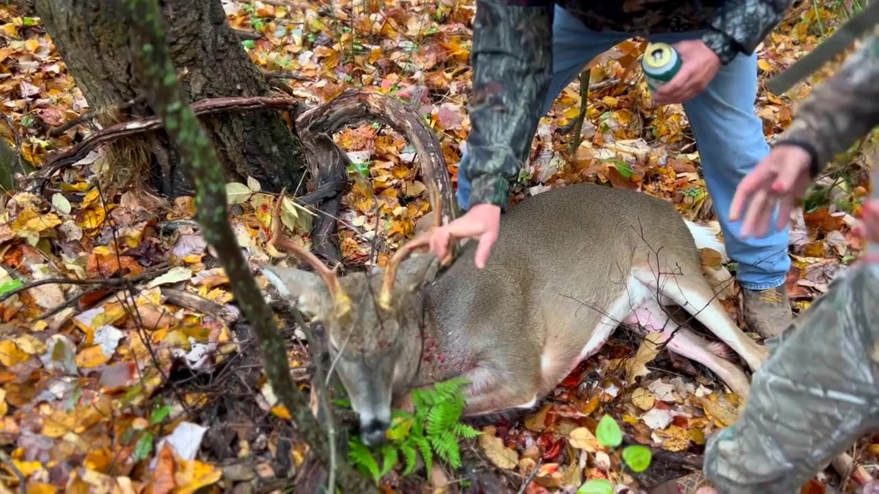
<svg viewBox="0 0 879 494"><path fill-rule="evenodd" d="M868 38L836 74L810 94L778 144L796 144L812 155L817 173L879 124L879 35Z"/></svg>

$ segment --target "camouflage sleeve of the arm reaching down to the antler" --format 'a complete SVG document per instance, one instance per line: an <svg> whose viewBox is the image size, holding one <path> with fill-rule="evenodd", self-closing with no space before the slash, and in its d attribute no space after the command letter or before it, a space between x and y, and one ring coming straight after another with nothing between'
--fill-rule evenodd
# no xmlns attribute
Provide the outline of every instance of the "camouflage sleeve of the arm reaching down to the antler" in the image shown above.
<svg viewBox="0 0 879 494"><path fill-rule="evenodd" d="M552 4L477 0L473 25L470 206L505 208L531 149L552 72Z"/></svg>

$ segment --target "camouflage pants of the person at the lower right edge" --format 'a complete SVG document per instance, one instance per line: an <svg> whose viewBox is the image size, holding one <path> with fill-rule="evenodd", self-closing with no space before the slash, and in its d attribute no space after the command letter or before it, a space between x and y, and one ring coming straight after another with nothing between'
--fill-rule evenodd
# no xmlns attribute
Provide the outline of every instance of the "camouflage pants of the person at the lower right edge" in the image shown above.
<svg viewBox="0 0 879 494"><path fill-rule="evenodd" d="M840 273L778 338L742 417L708 440L705 475L723 494L799 492L879 429L879 267Z"/></svg>

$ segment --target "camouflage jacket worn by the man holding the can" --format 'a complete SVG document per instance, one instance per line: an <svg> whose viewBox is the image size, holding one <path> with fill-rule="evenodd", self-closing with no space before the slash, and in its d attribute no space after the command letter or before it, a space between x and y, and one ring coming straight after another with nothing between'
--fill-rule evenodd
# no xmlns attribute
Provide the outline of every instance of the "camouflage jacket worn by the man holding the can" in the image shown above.
<svg viewBox="0 0 879 494"><path fill-rule="evenodd" d="M790 0L476 0L464 171L470 205L506 207L527 159L552 70L556 4L595 31L649 36L704 29L701 40L726 64L738 53L752 54Z"/></svg>

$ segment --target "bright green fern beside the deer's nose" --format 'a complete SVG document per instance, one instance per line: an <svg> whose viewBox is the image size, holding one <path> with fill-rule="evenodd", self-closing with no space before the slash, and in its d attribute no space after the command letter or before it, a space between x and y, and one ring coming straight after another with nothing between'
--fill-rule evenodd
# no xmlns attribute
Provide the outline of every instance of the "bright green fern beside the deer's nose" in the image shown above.
<svg viewBox="0 0 879 494"><path fill-rule="evenodd" d="M359 437L349 441L348 461L360 471L371 476L375 483L396 466L403 455L403 476L415 470L418 454L421 454L430 480L434 454L446 461L453 469L461 468L461 439L475 439L481 432L460 423L464 411L464 391L468 381L454 378L435 383L432 388L412 391L414 414L394 410L388 442L378 448L381 469L373 452Z"/></svg>

